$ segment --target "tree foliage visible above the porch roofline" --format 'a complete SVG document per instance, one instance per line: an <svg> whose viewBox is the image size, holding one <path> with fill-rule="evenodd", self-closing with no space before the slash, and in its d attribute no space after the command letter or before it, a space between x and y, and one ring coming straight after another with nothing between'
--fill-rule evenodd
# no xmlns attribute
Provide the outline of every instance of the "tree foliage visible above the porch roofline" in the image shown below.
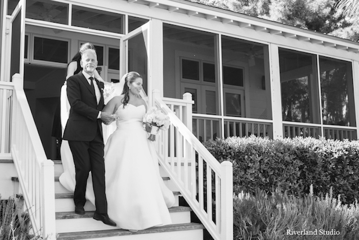
<svg viewBox="0 0 359 240"><path fill-rule="evenodd" d="M359 0L189 0L270 21L359 40L359 24L348 15L350 3L359 15ZM344 6L344 7L343 7ZM357 18L356 18L357 19Z"/></svg>

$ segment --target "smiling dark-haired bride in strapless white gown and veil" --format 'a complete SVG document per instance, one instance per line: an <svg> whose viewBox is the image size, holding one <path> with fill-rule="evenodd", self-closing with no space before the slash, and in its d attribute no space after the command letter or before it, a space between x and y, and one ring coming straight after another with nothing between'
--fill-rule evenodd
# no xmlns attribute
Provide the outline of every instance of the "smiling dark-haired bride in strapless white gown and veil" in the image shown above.
<svg viewBox="0 0 359 240"><path fill-rule="evenodd" d="M117 119L117 128L105 145L108 215L119 228L131 231L171 224L168 208L174 205L173 193L159 175L153 142L147 139L143 129L142 118L147 106L139 96L142 85L143 79L138 73L125 74L115 87L115 92L122 94L110 99L103 110ZM60 177L65 187L71 180ZM89 186L86 197L94 203Z"/></svg>

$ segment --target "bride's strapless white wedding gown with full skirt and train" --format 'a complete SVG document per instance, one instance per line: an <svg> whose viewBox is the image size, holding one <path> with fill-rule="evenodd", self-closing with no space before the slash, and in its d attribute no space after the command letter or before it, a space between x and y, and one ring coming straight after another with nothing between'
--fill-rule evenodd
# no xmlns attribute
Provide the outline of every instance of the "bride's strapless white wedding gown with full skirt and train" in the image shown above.
<svg viewBox="0 0 359 240"><path fill-rule="evenodd" d="M61 101L62 106L67 106L66 86L62 89ZM174 205L175 199L159 175L154 144L147 139L148 133L143 129L145 109L144 105L135 107L128 104L125 108L121 105L115 112L118 119L112 124L116 124L117 128L105 145L108 214L117 227L122 229L142 230L171 223L168 208ZM61 113L67 114L63 110ZM62 121L64 119L62 117ZM104 135L109 129L105 127ZM59 181L73 192L75 167L67 141L63 141L63 145L61 154L64 172ZM87 181L86 198L94 204L91 173Z"/></svg>

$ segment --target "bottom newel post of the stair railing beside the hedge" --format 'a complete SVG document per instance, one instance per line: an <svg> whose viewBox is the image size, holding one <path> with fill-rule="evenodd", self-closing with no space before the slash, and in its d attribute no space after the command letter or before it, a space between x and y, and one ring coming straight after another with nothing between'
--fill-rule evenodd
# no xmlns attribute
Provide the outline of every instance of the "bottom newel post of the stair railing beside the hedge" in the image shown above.
<svg viewBox="0 0 359 240"><path fill-rule="evenodd" d="M232 163L221 163L221 240L233 239L233 170Z"/></svg>

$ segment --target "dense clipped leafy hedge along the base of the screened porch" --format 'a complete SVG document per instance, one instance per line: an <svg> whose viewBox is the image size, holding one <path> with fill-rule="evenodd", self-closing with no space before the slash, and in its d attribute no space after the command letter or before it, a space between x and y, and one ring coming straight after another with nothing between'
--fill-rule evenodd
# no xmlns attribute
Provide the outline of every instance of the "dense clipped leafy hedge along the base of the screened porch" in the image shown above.
<svg viewBox="0 0 359 240"><path fill-rule="evenodd" d="M339 195L344 204L359 198L359 142L311 137L272 140L217 138L204 143L219 161L233 164L233 191L254 194L279 188L294 196Z"/></svg>

